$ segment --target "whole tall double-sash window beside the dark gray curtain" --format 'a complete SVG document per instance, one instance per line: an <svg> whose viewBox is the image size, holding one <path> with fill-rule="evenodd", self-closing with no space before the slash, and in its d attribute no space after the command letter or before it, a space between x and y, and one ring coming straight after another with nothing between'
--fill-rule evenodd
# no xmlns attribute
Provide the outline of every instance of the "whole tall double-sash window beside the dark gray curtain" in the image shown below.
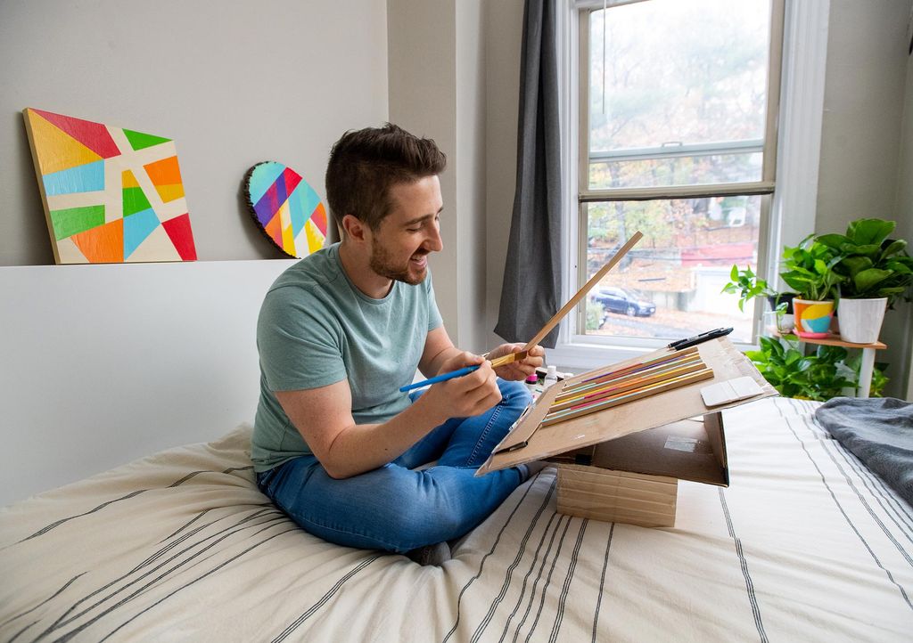
<svg viewBox="0 0 913 643"><path fill-rule="evenodd" d="M782 0L577 6L577 288L645 235L584 300L577 335L649 345L732 326L753 342L754 306L720 290L732 264L766 267Z"/></svg>

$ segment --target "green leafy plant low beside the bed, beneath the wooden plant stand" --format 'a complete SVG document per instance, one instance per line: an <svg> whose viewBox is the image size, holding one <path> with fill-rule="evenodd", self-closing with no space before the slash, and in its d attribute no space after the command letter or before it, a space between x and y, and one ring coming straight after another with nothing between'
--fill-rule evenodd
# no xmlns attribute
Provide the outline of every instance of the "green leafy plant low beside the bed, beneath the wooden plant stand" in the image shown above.
<svg viewBox="0 0 913 643"><path fill-rule="evenodd" d="M798 342L771 337L759 340L761 349L745 355L782 396L824 401L858 386L859 358L847 359L844 347L819 346L813 354L804 355ZM876 368L870 395L880 395L886 384L884 371Z"/></svg>

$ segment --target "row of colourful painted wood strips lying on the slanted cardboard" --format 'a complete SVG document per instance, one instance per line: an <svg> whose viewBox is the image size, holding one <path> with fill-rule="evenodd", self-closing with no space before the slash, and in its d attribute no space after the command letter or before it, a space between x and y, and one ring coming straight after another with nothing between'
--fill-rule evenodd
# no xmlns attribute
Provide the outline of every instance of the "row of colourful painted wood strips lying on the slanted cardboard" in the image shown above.
<svg viewBox="0 0 913 643"><path fill-rule="evenodd" d="M597 374L562 390L552 400L541 426L611 409L619 404L712 377L713 370L700 358L697 347L661 355L629 367Z"/></svg>

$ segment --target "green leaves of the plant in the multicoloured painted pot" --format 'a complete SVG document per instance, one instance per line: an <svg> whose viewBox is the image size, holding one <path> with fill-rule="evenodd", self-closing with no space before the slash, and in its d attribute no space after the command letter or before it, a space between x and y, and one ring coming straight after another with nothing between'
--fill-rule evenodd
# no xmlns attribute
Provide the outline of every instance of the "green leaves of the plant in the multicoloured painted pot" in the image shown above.
<svg viewBox="0 0 913 643"><path fill-rule="evenodd" d="M834 271L834 265L841 258L838 251L809 234L799 245L783 248L780 278L803 299L839 299L843 276Z"/></svg>

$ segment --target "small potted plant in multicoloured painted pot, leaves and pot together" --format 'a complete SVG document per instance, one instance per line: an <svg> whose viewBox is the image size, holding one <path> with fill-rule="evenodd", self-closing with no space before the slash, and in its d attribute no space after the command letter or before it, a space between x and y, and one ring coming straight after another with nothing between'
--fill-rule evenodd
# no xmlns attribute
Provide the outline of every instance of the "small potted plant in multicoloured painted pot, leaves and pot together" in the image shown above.
<svg viewBox="0 0 913 643"><path fill-rule="evenodd" d="M783 248L780 278L798 296L792 300L796 334L799 337L827 337L834 316L834 302L840 296L843 277L834 271L840 254L810 234L795 246Z"/></svg>

